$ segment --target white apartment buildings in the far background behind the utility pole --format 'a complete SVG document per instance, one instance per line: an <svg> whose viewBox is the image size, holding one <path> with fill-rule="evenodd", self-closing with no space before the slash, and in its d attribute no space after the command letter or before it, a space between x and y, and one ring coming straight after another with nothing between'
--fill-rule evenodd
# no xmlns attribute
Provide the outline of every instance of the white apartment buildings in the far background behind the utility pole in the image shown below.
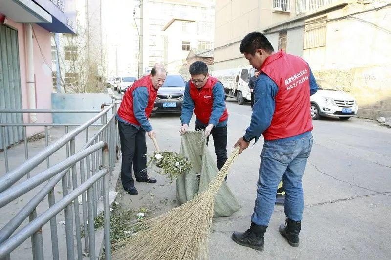
<svg viewBox="0 0 391 260"><path fill-rule="evenodd" d="M143 2L143 55L140 71L149 71L155 64L169 66L172 70L171 68L176 65L170 63L181 60L182 63L177 62L177 64L182 65L186 61L190 47L205 49L214 47L215 0L144 0ZM176 22L170 24L168 30L167 28L163 30L173 19ZM173 41L177 44L173 39L175 33L178 38L183 38L186 34L183 42L189 44L183 45L191 46L185 46L185 50L182 50L182 40L180 40L180 44L176 46L178 51L176 53L169 51L166 55L164 51L167 44L165 43ZM174 70L178 72L178 69Z"/></svg>

